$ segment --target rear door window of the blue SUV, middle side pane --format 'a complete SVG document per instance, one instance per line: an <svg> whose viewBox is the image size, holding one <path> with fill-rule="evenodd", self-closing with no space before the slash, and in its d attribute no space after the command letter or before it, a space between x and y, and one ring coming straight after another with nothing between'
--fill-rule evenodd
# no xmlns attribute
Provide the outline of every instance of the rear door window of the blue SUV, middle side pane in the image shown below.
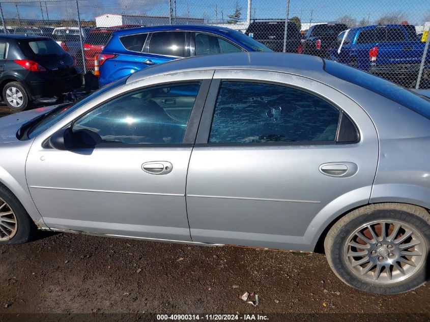
<svg viewBox="0 0 430 322"><path fill-rule="evenodd" d="M158 55L185 57L185 33L153 33L149 44L149 52Z"/></svg>

